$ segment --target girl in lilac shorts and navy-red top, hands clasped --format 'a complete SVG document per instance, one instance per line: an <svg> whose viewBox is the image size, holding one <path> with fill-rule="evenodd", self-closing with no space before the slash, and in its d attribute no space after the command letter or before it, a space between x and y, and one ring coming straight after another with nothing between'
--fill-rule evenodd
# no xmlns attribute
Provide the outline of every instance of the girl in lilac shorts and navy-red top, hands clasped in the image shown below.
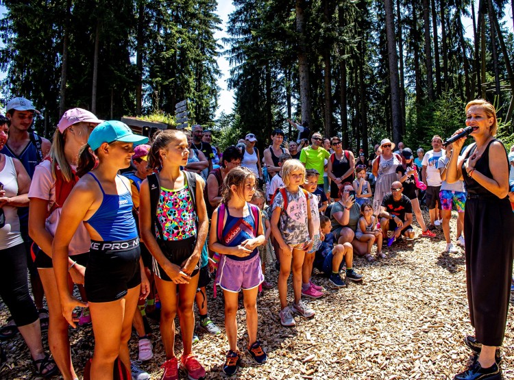
<svg viewBox="0 0 514 380"><path fill-rule="evenodd" d="M235 375L241 365L237 349L238 293L242 289L248 330L247 351L257 364L267 361L257 340L257 292L264 280L257 247L264 244L258 207L249 203L256 191L256 177L248 168L233 168L225 177L221 204L212 214L209 249L221 253L216 284L225 299L225 330L230 349L223 372ZM219 226L219 227L218 227Z"/></svg>

